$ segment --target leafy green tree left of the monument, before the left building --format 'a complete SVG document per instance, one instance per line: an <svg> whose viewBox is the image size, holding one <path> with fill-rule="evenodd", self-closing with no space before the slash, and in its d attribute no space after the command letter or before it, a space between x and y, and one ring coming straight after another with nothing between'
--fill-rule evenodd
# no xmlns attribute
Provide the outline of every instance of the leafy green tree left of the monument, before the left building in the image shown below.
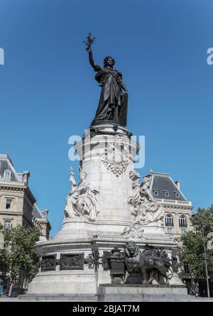
<svg viewBox="0 0 213 316"><path fill-rule="evenodd" d="M10 292L21 271L28 279L36 273L37 255L34 249L40 232L35 228L21 226L11 229L0 227L4 234L4 249L0 250L0 271L4 273L10 284Z"/></svg>

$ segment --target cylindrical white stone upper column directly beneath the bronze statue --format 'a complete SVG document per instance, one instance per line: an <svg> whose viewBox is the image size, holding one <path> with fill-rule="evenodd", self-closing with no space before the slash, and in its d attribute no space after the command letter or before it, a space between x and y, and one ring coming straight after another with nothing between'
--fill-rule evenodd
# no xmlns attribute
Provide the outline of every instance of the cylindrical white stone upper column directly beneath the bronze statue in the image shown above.
<svg viewBox="0 0 213 316"><path fill-rule="evenodd" d="M99 124L86 131L75 149L80 156L82 172L87 173L87 182L99 192L96 196L99 214L93 223L85 217L65 219L57 238L92 238L94 234L120 236L133 221L128 197L136 142L124 127Z"/></svg>

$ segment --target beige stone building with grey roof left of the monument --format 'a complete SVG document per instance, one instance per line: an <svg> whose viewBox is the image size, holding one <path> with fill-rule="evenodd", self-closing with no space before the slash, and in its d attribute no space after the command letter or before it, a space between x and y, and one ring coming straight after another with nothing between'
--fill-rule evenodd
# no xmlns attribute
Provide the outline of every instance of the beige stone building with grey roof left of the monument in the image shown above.
<svg viewBox="0 0 213 316"><path fill-rule="evenodd" d="M48 210L40 211L28 187L30 173L17 173L8 154L0 154L0 223L5 228L37 227L49 238Z"/></svg>

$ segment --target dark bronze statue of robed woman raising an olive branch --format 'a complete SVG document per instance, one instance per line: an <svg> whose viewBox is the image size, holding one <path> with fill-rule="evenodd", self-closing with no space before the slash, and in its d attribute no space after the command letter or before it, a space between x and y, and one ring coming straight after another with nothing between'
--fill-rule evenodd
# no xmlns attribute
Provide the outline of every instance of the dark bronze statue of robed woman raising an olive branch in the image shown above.
<svg viewBox="0 0 213 316"><path fill-rule="evenodd" d="M104 67L94 63L91 47L93 42L94 38L89 33L84 43L87 45L90 65L97 72L95 79L102 87L99 105L92 125L102 121L113 121L121 126L126 126L128 91L122 81L122 74L119 70L114 70L115 60L111 56L104 58Z"/></svg>

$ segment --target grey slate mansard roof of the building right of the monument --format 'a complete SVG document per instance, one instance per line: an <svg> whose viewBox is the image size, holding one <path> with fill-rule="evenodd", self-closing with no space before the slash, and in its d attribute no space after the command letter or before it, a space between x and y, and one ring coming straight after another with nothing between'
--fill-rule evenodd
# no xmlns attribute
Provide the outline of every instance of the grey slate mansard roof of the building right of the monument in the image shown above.
<svg viewBox="0 0 213 316"><path fill-rule="evenodd" d="M153 197L164 200L187 201L180 187L175 184L169 173L154 173L152 171L148 177L152 178L149 189ZM155 191L158 191L158 195L154 194ZM165 194L165 192L168 192L168 194Z"/></svg>

